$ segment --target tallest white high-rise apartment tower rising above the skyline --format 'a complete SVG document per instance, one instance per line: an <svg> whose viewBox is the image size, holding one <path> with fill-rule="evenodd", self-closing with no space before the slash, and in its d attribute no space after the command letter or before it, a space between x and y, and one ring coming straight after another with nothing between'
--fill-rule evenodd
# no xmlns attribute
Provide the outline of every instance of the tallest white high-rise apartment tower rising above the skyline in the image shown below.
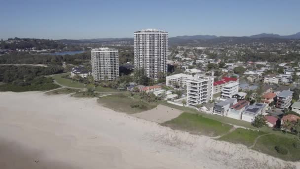
<svg viewBox="0 0 300 169"><path fill-rule="evenodd" d="M134 33L134 67L144 68L147 77L157 79L157 73L167 74L168 33L146 29Z"/></svg>

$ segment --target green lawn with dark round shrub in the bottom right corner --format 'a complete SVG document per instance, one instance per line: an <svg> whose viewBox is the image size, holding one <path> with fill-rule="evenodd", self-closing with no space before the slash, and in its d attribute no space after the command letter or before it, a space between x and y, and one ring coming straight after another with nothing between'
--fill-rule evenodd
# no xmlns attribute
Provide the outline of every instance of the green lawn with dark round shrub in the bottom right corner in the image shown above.
<svg viewBox="0 0 300 169"><path fill-rule="evenodd" d="M298 147L294 147L293 143L297 143ZM279 145L288 150L287 155L277 153L275 146ZM287 161L300 160L300 142L295 138L289 138L275 134L263 135L258 139L253 149Z"/></svg>

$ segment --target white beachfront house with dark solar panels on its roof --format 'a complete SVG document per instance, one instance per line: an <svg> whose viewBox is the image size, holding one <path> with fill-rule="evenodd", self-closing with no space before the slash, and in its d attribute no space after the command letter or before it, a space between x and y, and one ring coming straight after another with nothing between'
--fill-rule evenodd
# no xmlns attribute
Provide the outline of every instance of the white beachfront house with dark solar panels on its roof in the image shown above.
<svg viewBox="0 0 300 169"><path fill-rule="evenodd" d="M242 112L241 120L252 123L256 116L265 113L265 108L266 105L264 103L254 103Z"/></svg>

